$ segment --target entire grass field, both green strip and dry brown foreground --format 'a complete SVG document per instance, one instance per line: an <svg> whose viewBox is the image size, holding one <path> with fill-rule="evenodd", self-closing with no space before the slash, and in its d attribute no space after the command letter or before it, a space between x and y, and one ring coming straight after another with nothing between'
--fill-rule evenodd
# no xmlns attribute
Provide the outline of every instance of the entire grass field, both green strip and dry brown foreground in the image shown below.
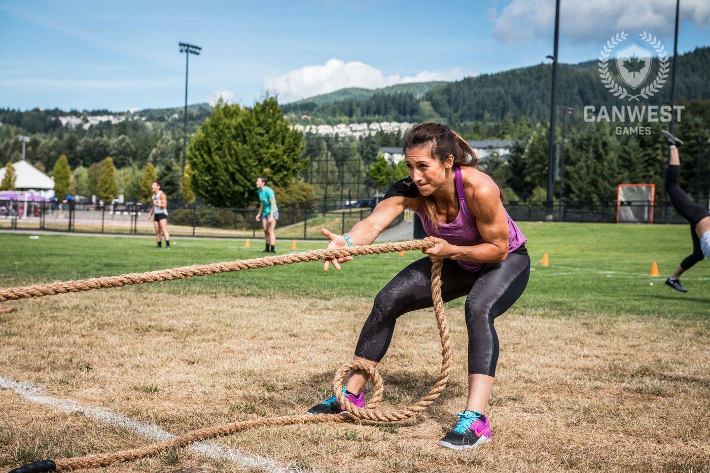
<svg viewBox="0 0 710 473"><path fill-rule="evenodd" d="M686 256L687 227L520 227L534 271L523 297L496 320L492 444L466 452L436 445L466 399L457 300L447 304L452 378L435 404L406 423L258 428L212 443L271 466L182 450L105 471L710 472L710 263L682 278L685 295L649 276L653 261L667 276ZM252 249L229 240L176 238L170 251L154 245L0 234L0 287L261 256L258 241ZM421 256L359 257L340 272L301 263L9 303L16 311L0 314L0 467L153 442L40 397L173 434L304 412L329 395L376 292ZM381 364L383 408L429 389L438 343L431 310L400 318ZM31 384L34 397L11 388L14 381Z"/></svg>

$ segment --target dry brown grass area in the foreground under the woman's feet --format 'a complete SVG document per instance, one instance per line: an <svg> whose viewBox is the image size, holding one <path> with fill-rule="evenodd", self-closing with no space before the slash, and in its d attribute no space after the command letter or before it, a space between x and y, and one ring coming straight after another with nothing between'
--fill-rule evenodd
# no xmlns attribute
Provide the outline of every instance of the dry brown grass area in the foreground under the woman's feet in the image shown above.
<svg viewBox="0 0 710 473"><path fill-rule="evenodd" d="M121 289L18 303L0 315L0 376L172 433L302 413L329 395L371 300L182 296ZM706 321L511 310L498 318L494 442L437 440L464 407L466 331L449 308L457 364L447 390L403 425L258 428L219 439L245 455L322 471L682 471L710 468ZM432 313L401 317L381 365L386 406L435 381ZM0 465L148 442L0 391ZM116 471L248 471L183 451Z"/></svg>

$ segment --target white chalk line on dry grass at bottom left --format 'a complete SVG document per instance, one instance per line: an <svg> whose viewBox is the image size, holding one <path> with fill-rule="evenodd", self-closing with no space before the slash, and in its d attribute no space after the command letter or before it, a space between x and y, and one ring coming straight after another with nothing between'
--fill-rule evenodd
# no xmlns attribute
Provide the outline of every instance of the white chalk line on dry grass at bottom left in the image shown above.
<svg viewBox="0 0 710 473"><path fill-rule="evenodd" d="M138 420L133 420L126 417L126 415L114 413L109 408L82 406L82 404L72 399L55 398L53 396L40 394L40 388L38 388L38 386L33 386L32 384L22 383L20 381L0 376L0 389L10 389L28 401L55 408L58 411L82 413L88 418L98 420L104 424L115 425L116 427L131 430L138 435L142 435L143 437L148 437L158 441L169 440L176 437L176 435L166 432L158 427L158 425L138 422ZM213 459L229 460L230 462L239 464L242 467L260 468L266 472L273 473L294 471L294 469L281 467L279 464L273 460L269 460L268 458L248 457L240 453L239 450L234 450L232 448L225 447L224 445L218 445L215 443L195 442L185 448Z"/></svg>

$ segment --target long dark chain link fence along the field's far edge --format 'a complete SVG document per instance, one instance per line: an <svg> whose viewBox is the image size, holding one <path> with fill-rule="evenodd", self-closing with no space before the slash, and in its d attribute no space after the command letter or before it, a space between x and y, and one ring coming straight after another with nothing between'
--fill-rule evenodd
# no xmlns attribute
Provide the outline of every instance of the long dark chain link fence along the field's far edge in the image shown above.
<svg viewBox="0 0 710 473"><path fill-rule="evenodd" d="M315 204L321 204L315 206ZM377 198L361 200L318 200L300 202L279 208L276 224L278 239L324 239L320 229L346 232L365 219L377 205ZM510 202L506 210L518 222L606 222L624 223L625 214L647 217L635 220L639 224L687 224L672 205L666 202L622 202L638 207L641 212L620 212L616 202ZM314 210L315 209L315 210ZM25 202L0 200L0 229L53 230L99 234L155 234L150 207L140 203L96 205L80 202ZM227 209L214 207L168 206L168 231L178 237L261 238L262 222L256 220L256 209ZM418 217L417 217L418 218ZM413 212L400 215L390 227L405 219L413 219ZM628 221L626 221L628 222Z"/></svg>

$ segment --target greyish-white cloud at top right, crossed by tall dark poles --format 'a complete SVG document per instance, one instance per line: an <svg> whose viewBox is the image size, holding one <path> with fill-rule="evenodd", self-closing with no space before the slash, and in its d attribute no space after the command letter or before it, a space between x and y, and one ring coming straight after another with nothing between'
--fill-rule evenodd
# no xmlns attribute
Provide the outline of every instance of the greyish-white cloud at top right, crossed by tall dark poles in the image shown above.
<svg viewBox="0 0 710 473"><path fill-rule="evenodd" d="M602 43L619 31L649 31L671 38L675 2L668 0L563 1L559 12L560 37L575 43ZM698 28L710 26L710 1L683 0L680 20L692 21ZM520 43L531 38L552 38L555 28L555 2L513 0L496 18L493 36L505 43Z"/></svg>

